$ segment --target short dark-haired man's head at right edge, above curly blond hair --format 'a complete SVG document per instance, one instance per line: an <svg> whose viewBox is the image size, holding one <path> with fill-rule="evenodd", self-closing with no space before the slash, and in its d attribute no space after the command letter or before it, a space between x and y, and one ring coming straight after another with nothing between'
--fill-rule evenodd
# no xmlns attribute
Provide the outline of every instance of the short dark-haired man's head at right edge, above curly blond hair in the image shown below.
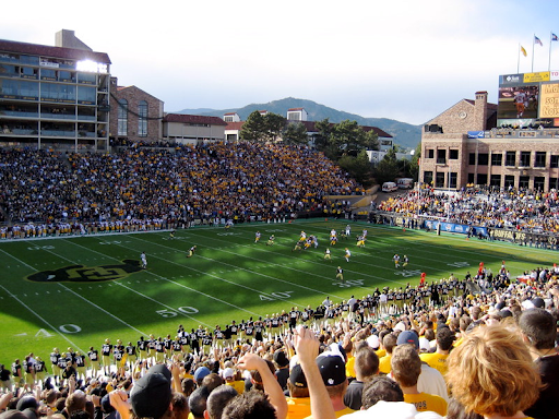
<svg viewBox="0 0 559 419"><path fill-rule="evenodd" d="M520 315L519 326L536 349L551 349L557 337L557 323L554 315L544 309L530 309Z"/></svg>

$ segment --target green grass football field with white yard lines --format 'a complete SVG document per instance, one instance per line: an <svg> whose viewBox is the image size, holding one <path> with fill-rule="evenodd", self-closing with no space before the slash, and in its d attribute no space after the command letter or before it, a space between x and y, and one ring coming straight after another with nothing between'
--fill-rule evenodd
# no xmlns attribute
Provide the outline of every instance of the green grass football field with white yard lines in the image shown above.
<svg viewBox="0 0 559 419"><path fill-rule="evenodd" d="M325 296L338 302L374 287L417 284L421 272L429 282L451 272L463 278L479 262L497 272L506 260L514 277L557 260L550 250L353 223L352 239L331 248L333 262L324 261L331 228L345 225L316 219L228 231L195 227L178 230L175 240L159 231L0 242L0 363L29 351L46 360L52 347L86 352L107 337L124 344L142 334L174 337L179 324L213 330L293 306L314 308ZM368 240L358 249L355 235L362 228ZM292 251L301 230L319 238L318 249ZM276 242L267 247L272 234ZM194 244L198 252L189 259ZM353 253L349 263L345 247ZM145 271L138 267L142 251ZM394 253L409 256L408 271L394 270ZM337 265L345 284L335 280Z"/></svg>

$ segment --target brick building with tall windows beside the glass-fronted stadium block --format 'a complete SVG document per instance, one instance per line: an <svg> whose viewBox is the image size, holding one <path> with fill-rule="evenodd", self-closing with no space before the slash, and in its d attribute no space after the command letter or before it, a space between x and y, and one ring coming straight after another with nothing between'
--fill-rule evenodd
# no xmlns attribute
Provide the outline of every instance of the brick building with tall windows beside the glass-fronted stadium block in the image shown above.
<svg viewBox="0 0 559 419"><path fill-rule="evenodd" d="M163 137L164 103L136 86L110 79L110 140L151 143Z"/></svg>

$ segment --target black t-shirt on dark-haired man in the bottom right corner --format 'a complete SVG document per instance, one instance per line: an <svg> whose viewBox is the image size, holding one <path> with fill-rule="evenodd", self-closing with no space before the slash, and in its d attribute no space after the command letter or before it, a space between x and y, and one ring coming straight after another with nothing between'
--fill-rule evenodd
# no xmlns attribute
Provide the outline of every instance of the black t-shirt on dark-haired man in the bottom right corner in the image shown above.
<svg viewBox="0 0 559 419"><path fill-rule="evenodd" d="M539 392L539 398L534 406L524 410L526 416L534 419L557 418L557 396L559 395L559 355L543 357L536 361L542 374L542 382L546 385Z"/></svg>

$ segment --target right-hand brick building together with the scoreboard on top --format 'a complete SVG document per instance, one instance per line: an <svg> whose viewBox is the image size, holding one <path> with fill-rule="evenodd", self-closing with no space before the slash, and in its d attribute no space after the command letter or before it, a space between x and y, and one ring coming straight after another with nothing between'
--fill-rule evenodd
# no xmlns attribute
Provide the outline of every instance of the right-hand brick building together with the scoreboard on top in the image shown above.
<svg viewBox="0 0 559 419"><path fill-rule="evenodd" d="M559 189L559 72L501 75L497 105L477 92L427 122L419 181Z"/></svg>

